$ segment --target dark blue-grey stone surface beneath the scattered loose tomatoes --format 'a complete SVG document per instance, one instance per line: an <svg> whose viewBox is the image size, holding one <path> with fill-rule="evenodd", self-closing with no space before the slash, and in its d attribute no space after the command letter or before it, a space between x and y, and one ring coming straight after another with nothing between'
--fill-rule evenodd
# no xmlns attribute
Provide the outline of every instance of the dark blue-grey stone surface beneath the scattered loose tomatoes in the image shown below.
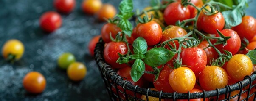
<svg viewBox="0 0 256 101"><path fill-rule="evenodd" d="M118 7L121 0L102 0ZM51 34L39 28L39 17L55 11L53 0L0 0L0 47L9 39L25 45L25 53L15 64L0 64L0 101L107 101L105 86L88 43L100 34L104 22L81 11L82 0L69 15L62 14L62 27ZM134 0L135 9L149 5L149 0ZM256 2L250 3L247 14L256 17ZM73 53L76 60L87 66L81 82L72 82L65 71L58 69L56 60L64 52ZM0 61L3 57L0 56ZM38 95L27 93L22 85L25 74L41 72L46 80L45 91Z"/></svg>

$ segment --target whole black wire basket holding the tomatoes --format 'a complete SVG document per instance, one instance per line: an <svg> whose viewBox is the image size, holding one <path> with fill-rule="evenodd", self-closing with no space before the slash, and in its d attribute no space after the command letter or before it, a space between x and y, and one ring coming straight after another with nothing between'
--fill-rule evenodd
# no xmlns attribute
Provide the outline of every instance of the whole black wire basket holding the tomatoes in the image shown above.
<svg viewBox="0 0 256 101"><path fill-rule="evenodd" d="M168 99L169 101L187 99L189 101L190 99L195 98L203 98L203 101L205 101L206 98L210 97L214 97L214 101L230 101L231 98L235 97L238 97L237 101L249 101L249 98L251 100L253 98L254 100L252 101L255 101L256 99L256 91L251 91L252 88L256 88L256 84L253 85L253 81L256 80L256 72L253 72L253 74L250 76L246 76L242 81L236 82L233 85L227 85L225 88L221 89L210 91L203 90L202 93L165 93L163 91L150 90L149 88L141 88L138 87L138 85L132 85L131 82L123 79L111 68L110 65L105 62L103 50L104 41L100 38L94 50L94 55L111 101L144 101L141 98L136 97L138 94L146 95L147 101L149 101L149 96L159 98L159 101L161 101L161 99ZM118 86L120 87L118 88ZM239 90L239 94L231 96L231 92L235 90ZM244 93L247 93L246 98L240 99L241 95ZM220 95L225 95L225 99L219 100Z"/></svg>

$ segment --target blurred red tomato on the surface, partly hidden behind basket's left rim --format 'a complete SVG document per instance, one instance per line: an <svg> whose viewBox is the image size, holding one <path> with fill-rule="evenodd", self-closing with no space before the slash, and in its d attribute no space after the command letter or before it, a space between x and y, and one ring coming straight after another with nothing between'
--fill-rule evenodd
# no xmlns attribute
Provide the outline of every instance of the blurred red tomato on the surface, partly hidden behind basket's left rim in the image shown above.
<svg viewBox="0 0 256 101"><path fill-rule="evenodd" d="M95 49L95 46L98 43L98 40L100 37L101 37L100 35L97 35L97 36L93 37L89 42L88 49L89 49L91 56L94 56L94 49Z"/></svg>

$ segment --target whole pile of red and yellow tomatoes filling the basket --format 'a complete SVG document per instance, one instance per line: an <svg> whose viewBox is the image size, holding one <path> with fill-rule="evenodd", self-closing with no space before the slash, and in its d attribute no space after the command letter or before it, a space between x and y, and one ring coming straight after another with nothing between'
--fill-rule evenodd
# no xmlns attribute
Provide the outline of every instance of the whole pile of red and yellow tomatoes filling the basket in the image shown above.
<svg viewBox="0 0 256 101"><path fill-rule="evenodd" d="M240 24L227 28L225 15L218 11L220 9L209 3L204 4L202 0L189 0L188 6L181 1L163 2L163 9L163 6L157 8L157 5L146 7L143 10L146 13L137 15L139 18L136 19L137 23L131 30L131 35L120 27L118 21L105 24L101 29L101 37L105 42L103 53L106 63L121 76L132 75L124 77L125 80L133 83L147 80L154 85L151 90L169 93L224 88L252 74L254 60L245 54L256 48L255 19L252 16L242 16ZM113 40L120 37L126 40ZM138 41L141 37L146 41L147 52L165 48L175 55L164 64L148 64L149 58L164 58L158 56L161 53L152 53L152 57L147 57L150 53L146 53L145 56L143 51L139 53L140 49L136 45L144 48L142 42ZM244 38L250 42L246 46L243 45ZM137 71L124 71L124 68L136 68ZM138 80L137 76L141 70L143 73ZM134 74L137 74L136 77L133 77ZM140 86L145 87L149 84ZM236 93L232 92L231 95ZM141 99L145 99L145 96L142 95ZM154 101L154 98L149 98L149 101L150 99Z"/></svg>

